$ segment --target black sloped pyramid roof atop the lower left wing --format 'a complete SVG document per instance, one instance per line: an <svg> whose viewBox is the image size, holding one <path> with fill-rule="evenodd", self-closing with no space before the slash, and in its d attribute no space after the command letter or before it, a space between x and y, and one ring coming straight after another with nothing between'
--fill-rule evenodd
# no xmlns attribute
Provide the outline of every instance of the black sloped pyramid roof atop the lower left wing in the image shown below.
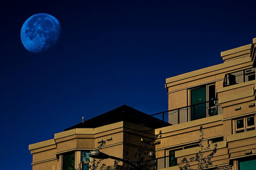
<svg viewBox="0 0 256 170"><path fill-rule="evenodd" d="M99 116L86 120L84 123L78 123L64 130L66 131L75 128L96 128L121 121L134 123L153 129L172 125L130 106L122 105Z"/></svg>

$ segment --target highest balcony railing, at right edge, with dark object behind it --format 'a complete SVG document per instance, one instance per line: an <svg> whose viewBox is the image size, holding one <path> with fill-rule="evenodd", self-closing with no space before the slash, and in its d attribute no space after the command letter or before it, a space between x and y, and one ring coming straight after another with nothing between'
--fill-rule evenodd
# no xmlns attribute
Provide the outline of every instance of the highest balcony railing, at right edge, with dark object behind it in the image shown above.
<svg viewBox="0 0 256 170"><path fill-rule="evenodd" d="M223 87L255 80L255 67L225 74Z"/></svg>

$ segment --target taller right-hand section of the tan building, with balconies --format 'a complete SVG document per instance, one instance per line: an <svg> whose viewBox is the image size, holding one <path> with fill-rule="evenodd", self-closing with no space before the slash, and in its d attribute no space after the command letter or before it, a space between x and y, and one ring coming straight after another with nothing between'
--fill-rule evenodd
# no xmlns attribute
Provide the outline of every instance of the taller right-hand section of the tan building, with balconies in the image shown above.
<svg viewBox="0 0 256 170"><path fill-rule="evenodd" d="M158 168L178 170L197 153L201 125L204 146L218 144L213 169L256 168L255 43L221 52L224 63L166 79L173 125L161 128Z"/></svg>

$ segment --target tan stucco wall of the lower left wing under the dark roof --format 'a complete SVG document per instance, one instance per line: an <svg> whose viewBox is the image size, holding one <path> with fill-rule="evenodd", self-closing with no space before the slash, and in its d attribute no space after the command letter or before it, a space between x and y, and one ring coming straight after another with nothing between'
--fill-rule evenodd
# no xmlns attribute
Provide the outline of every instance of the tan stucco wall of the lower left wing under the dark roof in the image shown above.
<svg viewBox="0 0 256 170"><path fill-rule="evenodd" d="M117 122L94 129L71 129L60 132L54 135L54 139L29 145L29 149L33 153L33 170L42 169L45 165L47 165L47 169L59 170L59 157L62 154L95 150L101 144L99 139L111 139L106 141L101 152L124 158L125 148L129 147L131 158L133 158L134 153L143 144L141 138L146 139L154 137L154 135L155 129L127 122ZM155 150L155 148L152 146L151 150ZM114 160L105 159L102 163L110 166L114 164Z"/></svg>

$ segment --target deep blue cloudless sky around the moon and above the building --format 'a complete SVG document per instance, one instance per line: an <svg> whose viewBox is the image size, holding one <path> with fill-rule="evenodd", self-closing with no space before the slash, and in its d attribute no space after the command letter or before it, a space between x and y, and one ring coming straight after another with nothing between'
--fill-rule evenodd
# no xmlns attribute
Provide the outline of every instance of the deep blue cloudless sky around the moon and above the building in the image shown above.
<svg viewBox="0 0 256 170"><path fill-rule="evenodd" d="M123 104L168 110L165 79L223 63L220 52L252 43L256 2L84 0L0 5L0 169L32 169L28 144L54 138ZM47 13L60 39L43 53L20 40Z"/></svg>

